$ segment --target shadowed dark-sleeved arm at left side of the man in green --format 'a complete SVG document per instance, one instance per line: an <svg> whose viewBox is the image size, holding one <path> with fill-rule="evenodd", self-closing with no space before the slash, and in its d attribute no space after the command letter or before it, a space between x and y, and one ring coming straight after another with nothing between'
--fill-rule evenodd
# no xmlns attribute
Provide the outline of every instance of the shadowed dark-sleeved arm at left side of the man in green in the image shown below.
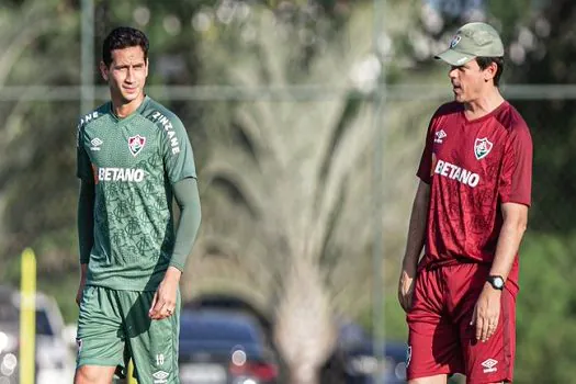
<svg viewBox="0 0 576 384"><path fill-rule="evenodd" d="M81 180L78 197L78 245L80 251L80 285L76 303L80 304L90 251L94 244L94 183Z"/></svg>

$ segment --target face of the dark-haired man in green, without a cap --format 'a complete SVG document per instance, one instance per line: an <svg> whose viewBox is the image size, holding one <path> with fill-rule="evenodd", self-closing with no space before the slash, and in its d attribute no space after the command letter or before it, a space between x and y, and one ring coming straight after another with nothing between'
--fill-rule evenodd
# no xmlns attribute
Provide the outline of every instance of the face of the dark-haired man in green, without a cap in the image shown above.
<svg viewBox="0 0 576 384"><path fill-rule="evenodd" d="M148 60L144 58L142 47L112 50L110 67L102 63L100 70L110 86L113 101L127 104L144 95L144 84L148 76Z"/></svg>

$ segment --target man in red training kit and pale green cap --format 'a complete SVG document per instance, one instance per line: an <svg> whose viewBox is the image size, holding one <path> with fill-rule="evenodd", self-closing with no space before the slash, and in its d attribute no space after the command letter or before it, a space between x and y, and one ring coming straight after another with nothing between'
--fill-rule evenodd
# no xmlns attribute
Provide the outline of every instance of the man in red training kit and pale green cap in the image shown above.
<svg viewBox="0 0 576 384"><path fill-rule="evenodd" d="M451 66L454 101L428 127L398 284L408 380L511 382L532 140L498 90L504 46L492 26L463 25L437 58Z"/></svg>

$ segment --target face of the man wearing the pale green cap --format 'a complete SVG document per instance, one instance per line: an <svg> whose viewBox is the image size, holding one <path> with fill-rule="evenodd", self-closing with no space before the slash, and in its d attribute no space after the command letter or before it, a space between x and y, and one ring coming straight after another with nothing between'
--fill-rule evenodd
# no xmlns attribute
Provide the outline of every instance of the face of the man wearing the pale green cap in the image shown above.
<svg viewBox="0 0 576 384"><path fill-rule="evenodd" d="M454 92L454 100L461 103L468 103L478 100L486 89L486 81L490 79L492 66L486 69L481 69L478 63L473 59L463 66L453 66L448 72L448 77L452 82L452 92Z"/></svg>

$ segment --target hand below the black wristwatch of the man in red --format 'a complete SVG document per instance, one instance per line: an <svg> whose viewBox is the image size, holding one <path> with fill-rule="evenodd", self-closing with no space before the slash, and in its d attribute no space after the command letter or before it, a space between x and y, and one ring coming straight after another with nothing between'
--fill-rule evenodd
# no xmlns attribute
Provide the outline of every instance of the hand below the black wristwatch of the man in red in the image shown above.
<svg viewBox="0 0 576 384"><path fill-rule="evenodd" d="M500 298L502 292L495 290L489 283L484 289L474 306L471 326L476 325L476 340L488 341L498 327L500 318Z"/></svg>

